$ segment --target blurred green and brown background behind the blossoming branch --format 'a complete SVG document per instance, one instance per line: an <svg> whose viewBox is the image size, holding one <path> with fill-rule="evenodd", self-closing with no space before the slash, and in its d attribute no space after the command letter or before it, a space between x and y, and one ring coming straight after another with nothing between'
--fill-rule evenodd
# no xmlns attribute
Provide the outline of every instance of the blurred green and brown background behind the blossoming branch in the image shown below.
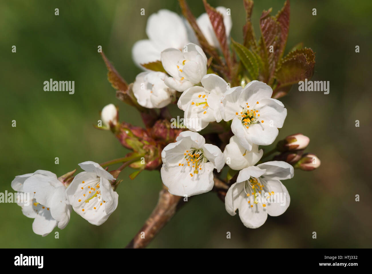
<svg viewBox="0 0 372 274"><path fill-rule="evenodd" d="M202 1L188 3L195 16L203 12ZM243 1L209 3L231 9L231 36L241 42ZM257 36L262 10L273 7L276 14L283 3L254 3ZM135 109L115 98L97 46L132 82L140 69L132 61L131 47L147 38L148 16L164 8L181 13L177 1L0 2L0 192L12 191L16 175L46 169L60 176L80 162L105 162L128 152L110 132L93 128L108 103L119 106L121 121L142 125ZM284 181L291 195L288 210L268 217L258 229L247 229L238 216L225 211L215 193L198 195L150 248L371 248L371 10L369 0L291 3L287 51L301 41L311 47L316 52L312 80L330 81L330 93L299 92L294 86L282 98L288 116L278 140L301 132L311 138L308 152L321 159L316 171L296 170L293 179ZM43 82L50 78L74 80L75 94L45 92ZM106 223L93 226L72 212L68 226L54 230L59 239L54 232L44 238L35 235L33 219L23 216L20 207L0 204L0 248L124 247L153 210L161 188L156 171L144 171L134 181L129 173L119 177L124 179L117 190L119 206ZM317 239L312 239L314 231Z"/></svg>

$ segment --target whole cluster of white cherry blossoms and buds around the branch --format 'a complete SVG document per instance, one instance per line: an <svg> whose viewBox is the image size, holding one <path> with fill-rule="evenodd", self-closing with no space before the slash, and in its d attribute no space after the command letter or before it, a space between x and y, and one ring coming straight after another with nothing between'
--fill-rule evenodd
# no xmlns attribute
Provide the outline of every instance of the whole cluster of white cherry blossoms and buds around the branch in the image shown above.
<svg viewBox="0 0 372 274"><path fill-rule="evenodd" d="M186 9L185 2L180 2ZM266 221L267 214L278 216L288 208L290 197L281 181L292 178L294 168L310 171L320 165L314 154L304 154L310 139L302 134L290 135L279 141L274 150L263 153L259 146L273 144L278 129L283 127L287 109L273 97L279 98L278 94L285 89L280 86L274 95L273 80L260 81L266 79L264 76L262 79L257 76L259 80L245 76L231 80L238 73L232 73L234 66L228 64L229 77L221 77L225 76L221 65L225 63L212 63L213 59L221 59L218 54L213 56L213 52L207 52L210 56L207 58L203 48L210 50L210 46L215 52L222 51L228 60L226 41L231 16L225 7L212 9L204 3L209 13L214 13L213 18L221 16L221 25L212 24L209 13L189 23L176 13L160 10L148 19L149 39L138 41L132 49L135 63L144 72L131 85L121 76L114 77L119 81L112 82L118 89L117 97L124 98L124 102L129 100L141 110L146 126L143 129L119 123L118 109L113 104L102 109L103 125L99 128L111 130L124 147L133 150L123 159L110 162L124 162L121 168L108 172L95 162L83 162L79 165L84 171L74 177L74 172L57 178L54 173L39 170L13 180L13 189L31 194L31 203L19 205L25 216L35 219L32 227L36 234L45 236L56 226L63 229L70 220L71 208L89 223L104 223L118 206L116 178L126 166L138 169L129 176L131 179L144 169L160 169L169 193L182 197L211 191L224 169L228 173L228 187L223 195L227 212L235 215L239 210L243 224L257 228ZM249 5L253 3L245 3L250 16ZM289 2L283 10L289 12ZM285 18L289 20L288 16ZM224 30L219 33L224 37L217 35L216 28ZM197 36L198 39L202 36L204 43L199 43ZM243 45L236 47L246 54L250 52ZM309 54L309 50L305 53ZM103 58L109 72L117 73L104 55ZM293 57L292 62L295 61ZM176 104L183 112L186 129L170 127L169 119L165 118L169 118L170 104ZM160 114L153 109L161 109ZM219 125L223 132L205 131L210 124ZM211 138L210 132L215 138ZM264 161L276 152L280 154Z"/></svg>

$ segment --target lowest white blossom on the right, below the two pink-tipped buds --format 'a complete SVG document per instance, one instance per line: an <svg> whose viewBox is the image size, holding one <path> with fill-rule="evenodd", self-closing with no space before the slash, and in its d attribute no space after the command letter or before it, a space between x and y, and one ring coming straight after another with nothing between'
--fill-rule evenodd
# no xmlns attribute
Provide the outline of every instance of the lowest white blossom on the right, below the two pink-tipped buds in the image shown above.
<svg viewBox="0 0 372 274"><path fill-rule="evenodd" d="M250 166L239 172L236 183L228 189L225 208L249 228L260 227L267 214L279 216L289 207L288 190L280 180L292 178L294 169L289 163L272 161Z"/></svg>

